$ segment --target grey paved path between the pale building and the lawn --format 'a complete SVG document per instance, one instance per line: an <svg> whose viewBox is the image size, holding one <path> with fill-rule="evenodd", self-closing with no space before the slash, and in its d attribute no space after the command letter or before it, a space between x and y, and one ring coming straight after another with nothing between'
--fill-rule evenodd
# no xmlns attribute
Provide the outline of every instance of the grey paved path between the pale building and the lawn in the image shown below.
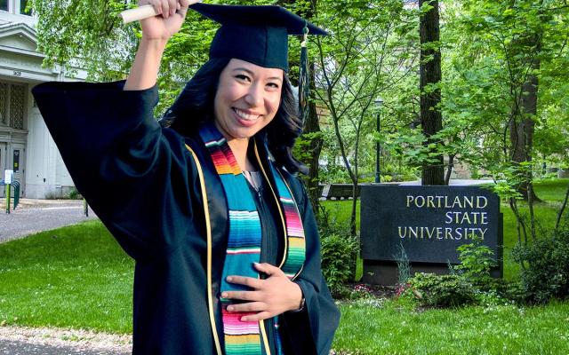
<svg viewBox="0 0 569 355"><path fill-rule="evenodd" d="M0 243L96 218L91 209L89 217L84 217L80 200L22 199L10 214L5 213L4 199L0 200L0 207Z"/></svg>

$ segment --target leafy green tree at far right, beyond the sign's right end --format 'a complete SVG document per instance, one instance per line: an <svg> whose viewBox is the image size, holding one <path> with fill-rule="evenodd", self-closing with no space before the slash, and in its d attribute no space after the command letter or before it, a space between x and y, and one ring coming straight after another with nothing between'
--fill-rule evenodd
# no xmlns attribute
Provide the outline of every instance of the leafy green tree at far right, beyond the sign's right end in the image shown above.
<svg viewBox="0 0 569 355"><path fill-rule="evenodd" d="M517 217L519 241L525 243L528 236L536 238L534 138L542 145L541 134L552 120L541 102L558 90L549 83L566 82L566 70L559 70L556 63L566 56L567 5L545 0L446 4L450 32L456 35L453 70L458 73L454 75L458 80L446 84L452 88L448 95L461 102L470 122L478 122L480 148L473 154L478 166L499 182L497 190L508 198ZM557 70L550 70L553 67ZM459 98L457 92L469 99ZM551 104L558 107L559 101ZM529 218L517 206L520 198L528 201Z"/></svg>

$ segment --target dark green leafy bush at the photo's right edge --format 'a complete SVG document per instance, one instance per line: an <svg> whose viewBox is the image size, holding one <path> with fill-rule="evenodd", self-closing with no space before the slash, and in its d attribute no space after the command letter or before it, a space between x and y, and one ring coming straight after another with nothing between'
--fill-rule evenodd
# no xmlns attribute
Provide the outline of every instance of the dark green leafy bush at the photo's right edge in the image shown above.
<svg viewBox="0 0 569 355"><path fill-rule="evenodd" d="M541 304L569 297L569 228L517 246L513 256L525 265L521 277L527 301Z"/></svg>

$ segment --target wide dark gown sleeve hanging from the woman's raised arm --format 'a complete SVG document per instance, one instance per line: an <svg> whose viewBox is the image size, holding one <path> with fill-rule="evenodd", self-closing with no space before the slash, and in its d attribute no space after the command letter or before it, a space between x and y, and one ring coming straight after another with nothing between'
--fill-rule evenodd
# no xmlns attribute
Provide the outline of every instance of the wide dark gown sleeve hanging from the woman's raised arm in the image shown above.
<svg viewBox="0 0 569 355"><path fill-rule="evenodd" d="M171 252L191 224L193 162L162 129L156 86L43 83L32 91L77 190L135 259Z"/></svg>

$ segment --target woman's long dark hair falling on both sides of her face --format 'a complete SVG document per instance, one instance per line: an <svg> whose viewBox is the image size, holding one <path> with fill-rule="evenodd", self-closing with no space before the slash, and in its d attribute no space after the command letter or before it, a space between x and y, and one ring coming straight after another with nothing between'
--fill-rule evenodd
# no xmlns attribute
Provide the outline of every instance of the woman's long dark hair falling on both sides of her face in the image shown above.
<svg viewBox="0 0 569 355"><path fill-rule="evenodd" d="M209 59L200 67L160 119L160 124L176 130L182 136L189 136L196 132L200 122L213 121L213 100L221 71L227 67L229 60ZM287 75L284 75L281 102L275 118L263 130L266 133L268 150L273 154L278 166L283 166L292 173L308 173L308 168L293 156L294 142L302 133L302 122Z"/></svg>

